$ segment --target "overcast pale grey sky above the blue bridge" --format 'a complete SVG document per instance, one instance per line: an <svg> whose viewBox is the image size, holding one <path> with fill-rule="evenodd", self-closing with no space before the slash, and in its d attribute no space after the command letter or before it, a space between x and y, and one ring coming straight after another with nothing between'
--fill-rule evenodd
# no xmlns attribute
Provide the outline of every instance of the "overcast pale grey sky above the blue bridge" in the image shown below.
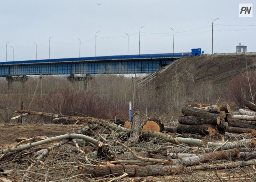
<svg viewBox="0 0 256 182"><path fill-rule="evenodd" d="M126 55L127 34L129 54L190 52L202 48L211 54L212 20L222 25L256 25L252 18L239 18L239 3L253 0L1 0L0 61L48 59L48 39L51 38L51 58ZM100 5L98 5L100 4ZM256 12L256 10L254 10ZM216 27L218 26L218 27ZM205 27L205 28L203 28ZM222 27L222 28L219 28ZM201 29L199 29L201 28ZM226 29L224 29L226 28ZM198 29L198 30L194 30ZM232 30L227 30L232 29ZM189 31L194 30L194 31ZM243 30L243 31L234 31ZM187 32L184 32L187 31ZM159 34L157 34L159 33ZM214 26L214 52L235 52L240 42L247 51L256 51L256 26Z"/></svg>

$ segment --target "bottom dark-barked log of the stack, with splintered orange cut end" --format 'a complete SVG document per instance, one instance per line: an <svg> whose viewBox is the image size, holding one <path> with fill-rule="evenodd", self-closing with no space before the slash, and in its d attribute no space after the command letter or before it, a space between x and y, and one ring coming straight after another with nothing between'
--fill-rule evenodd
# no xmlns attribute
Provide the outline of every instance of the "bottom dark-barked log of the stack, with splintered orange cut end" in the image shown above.
<svg viewBox="0 0 256 182"><path fill-rule="evenodd" d="M215 125L203 124L203 125L185 125L178 124L176 127L177 133L190 133L200 135L216 135Z"/></svg>

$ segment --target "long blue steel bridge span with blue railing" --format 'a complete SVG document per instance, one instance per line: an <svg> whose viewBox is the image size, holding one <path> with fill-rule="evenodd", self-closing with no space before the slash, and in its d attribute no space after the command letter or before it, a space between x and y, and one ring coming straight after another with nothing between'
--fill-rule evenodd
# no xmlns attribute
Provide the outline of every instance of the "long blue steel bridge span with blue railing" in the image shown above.
<svg viewBox="0 0 256 182"><path fill-rule="evenodd" d="M201 52L201 49L200 49ZM193 53L193 52L192 52ZM0 77L154 73L191 52L0 62ZM199 54L200 55L200 54Z"/></svg>

